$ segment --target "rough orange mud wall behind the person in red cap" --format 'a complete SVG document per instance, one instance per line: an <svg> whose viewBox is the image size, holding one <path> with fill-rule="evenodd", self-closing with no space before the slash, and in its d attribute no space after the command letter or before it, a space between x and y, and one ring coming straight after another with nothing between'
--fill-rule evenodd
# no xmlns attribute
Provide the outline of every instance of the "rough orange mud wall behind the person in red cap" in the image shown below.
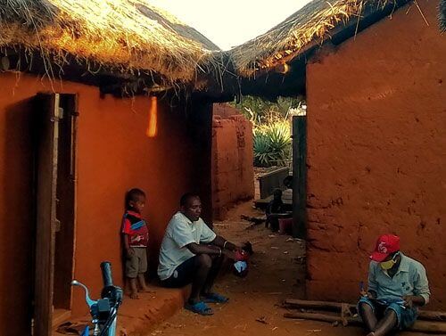
<svg viewBox="0 0 446 336"><path fill-rule="evenodd" d="M307 66L310 299L358 299L393 233L446 309L446 38L418 4L429 26L405 6Z"/></svg>

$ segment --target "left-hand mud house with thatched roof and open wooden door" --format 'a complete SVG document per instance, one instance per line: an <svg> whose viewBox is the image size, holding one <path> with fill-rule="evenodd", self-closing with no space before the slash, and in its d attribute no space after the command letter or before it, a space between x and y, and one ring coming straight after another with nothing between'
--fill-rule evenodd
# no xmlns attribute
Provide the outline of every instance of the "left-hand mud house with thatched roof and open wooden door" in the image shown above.
<svg viewBox="0 0 446 336"><path fill-rule="evenodd" d="M212 103L194 86L217 47L133 0L2 2L0 31L0 334L34 319L47 335L87 313L73 277L96 296L106 259L122 284L129 188L147 193L154 260L182 193L210 214Z"/></svg>

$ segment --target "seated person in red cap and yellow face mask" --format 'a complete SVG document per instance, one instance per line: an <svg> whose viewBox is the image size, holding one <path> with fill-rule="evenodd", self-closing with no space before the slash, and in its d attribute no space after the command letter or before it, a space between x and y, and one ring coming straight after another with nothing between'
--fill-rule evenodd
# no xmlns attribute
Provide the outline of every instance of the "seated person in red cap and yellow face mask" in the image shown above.
<svg viewBox="0 0 446 336"><path fill-rule="evenodd" d="M400 251L400 238L384 234L370 256L368 291L359 300L359 316L368 336L383 336L415 323L418 308L429 302L425 267Z"/></svg>

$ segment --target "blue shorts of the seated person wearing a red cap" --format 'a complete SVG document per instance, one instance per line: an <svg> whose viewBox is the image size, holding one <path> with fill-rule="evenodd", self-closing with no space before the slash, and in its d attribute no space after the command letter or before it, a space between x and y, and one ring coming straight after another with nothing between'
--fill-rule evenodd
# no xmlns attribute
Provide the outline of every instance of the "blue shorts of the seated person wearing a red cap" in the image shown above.
<svg viewBox="0 0 446 336"><path fill-rule="evenodd" d="M400 302L386 302L378 299L361 298L359 299L358 305L360 303L365 303L372 307L378 319L383 318L389 309L393 310L398 320L397 329L399 330L409 328L409 326L415 323L418 317L417 307L404 307Z"/></svg>

